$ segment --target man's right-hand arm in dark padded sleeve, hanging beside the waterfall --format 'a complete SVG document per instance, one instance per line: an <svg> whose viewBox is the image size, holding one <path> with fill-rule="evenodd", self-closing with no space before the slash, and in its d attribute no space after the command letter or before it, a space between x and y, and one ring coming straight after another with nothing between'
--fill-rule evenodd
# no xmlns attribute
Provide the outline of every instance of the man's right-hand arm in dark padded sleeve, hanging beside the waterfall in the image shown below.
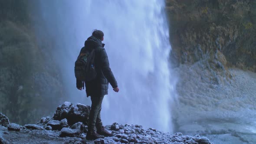
<svg viewBox="0 0 256 144"><path fill-rule="evenodd" d="M110 69L108 55L105 49L102 49L101 51L101 67L104 76L106 77L112 88L117 88L118 85L115 80L115 76L113 75L113 72Z"/></svg>

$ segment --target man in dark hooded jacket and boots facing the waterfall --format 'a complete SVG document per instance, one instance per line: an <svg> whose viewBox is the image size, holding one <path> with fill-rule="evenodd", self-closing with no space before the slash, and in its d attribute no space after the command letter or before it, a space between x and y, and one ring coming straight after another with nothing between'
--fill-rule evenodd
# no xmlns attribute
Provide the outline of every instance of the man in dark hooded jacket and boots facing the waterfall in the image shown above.
<svg viewBox="0 0 256 144"><path fill-rule="evenodd" d="M95 29L85 41L85 46L81 49L95 49L95 70L97 76L90 82L85 83L86 95L91 96L92 106L89 115L88 132L86 139L95 140L97 138L104 138L104 136L112 136L102 125L100 112L102 109L102 100L104 95L108 94L108 82L112 85L115 92L119 91L115 77L109 67L108 55L103 48L104 33ZM76 80L76 87L82 90L83 82L79 79ZM97 131L96 131L97 128Z"/></svg>

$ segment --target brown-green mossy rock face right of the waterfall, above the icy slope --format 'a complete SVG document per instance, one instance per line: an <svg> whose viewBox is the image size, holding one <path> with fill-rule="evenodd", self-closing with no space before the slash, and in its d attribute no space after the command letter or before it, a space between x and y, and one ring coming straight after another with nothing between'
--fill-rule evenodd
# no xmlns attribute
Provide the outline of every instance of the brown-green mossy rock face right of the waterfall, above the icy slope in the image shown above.
<svg viewBox="0 0 256 144"><path fill-rule="evenodd" d="M256 2L166 0L166 11L174 66L218 50L228 67L256 72Z"/></svg>

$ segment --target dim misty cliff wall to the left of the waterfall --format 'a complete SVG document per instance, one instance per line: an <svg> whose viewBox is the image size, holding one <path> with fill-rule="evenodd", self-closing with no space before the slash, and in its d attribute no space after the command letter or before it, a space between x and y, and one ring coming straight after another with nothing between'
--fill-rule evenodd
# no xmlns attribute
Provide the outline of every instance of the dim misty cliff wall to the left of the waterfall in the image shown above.
<svg viewBox="0 0 256 144"><path fill-rule="evenodd" d="M19 124L49 115L65 98L50 44L36 39L32 4L0 0L0 111Z"/></svg>

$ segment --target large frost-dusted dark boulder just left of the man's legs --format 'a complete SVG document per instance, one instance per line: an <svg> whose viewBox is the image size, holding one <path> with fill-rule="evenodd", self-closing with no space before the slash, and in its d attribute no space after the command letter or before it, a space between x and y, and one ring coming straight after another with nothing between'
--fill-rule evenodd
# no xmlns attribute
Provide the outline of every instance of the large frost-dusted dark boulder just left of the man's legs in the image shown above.
<svg viewBox="0 0 256 144"><path fill-rule="evenodd" d="M53 119L60 121L66 118L70 125L77 122L83 122L84 124L88 125L90 109L91 108L89 105L82 105L79 103L73 105L70 102L65 102L63 105L57 108Z"/></svg>

